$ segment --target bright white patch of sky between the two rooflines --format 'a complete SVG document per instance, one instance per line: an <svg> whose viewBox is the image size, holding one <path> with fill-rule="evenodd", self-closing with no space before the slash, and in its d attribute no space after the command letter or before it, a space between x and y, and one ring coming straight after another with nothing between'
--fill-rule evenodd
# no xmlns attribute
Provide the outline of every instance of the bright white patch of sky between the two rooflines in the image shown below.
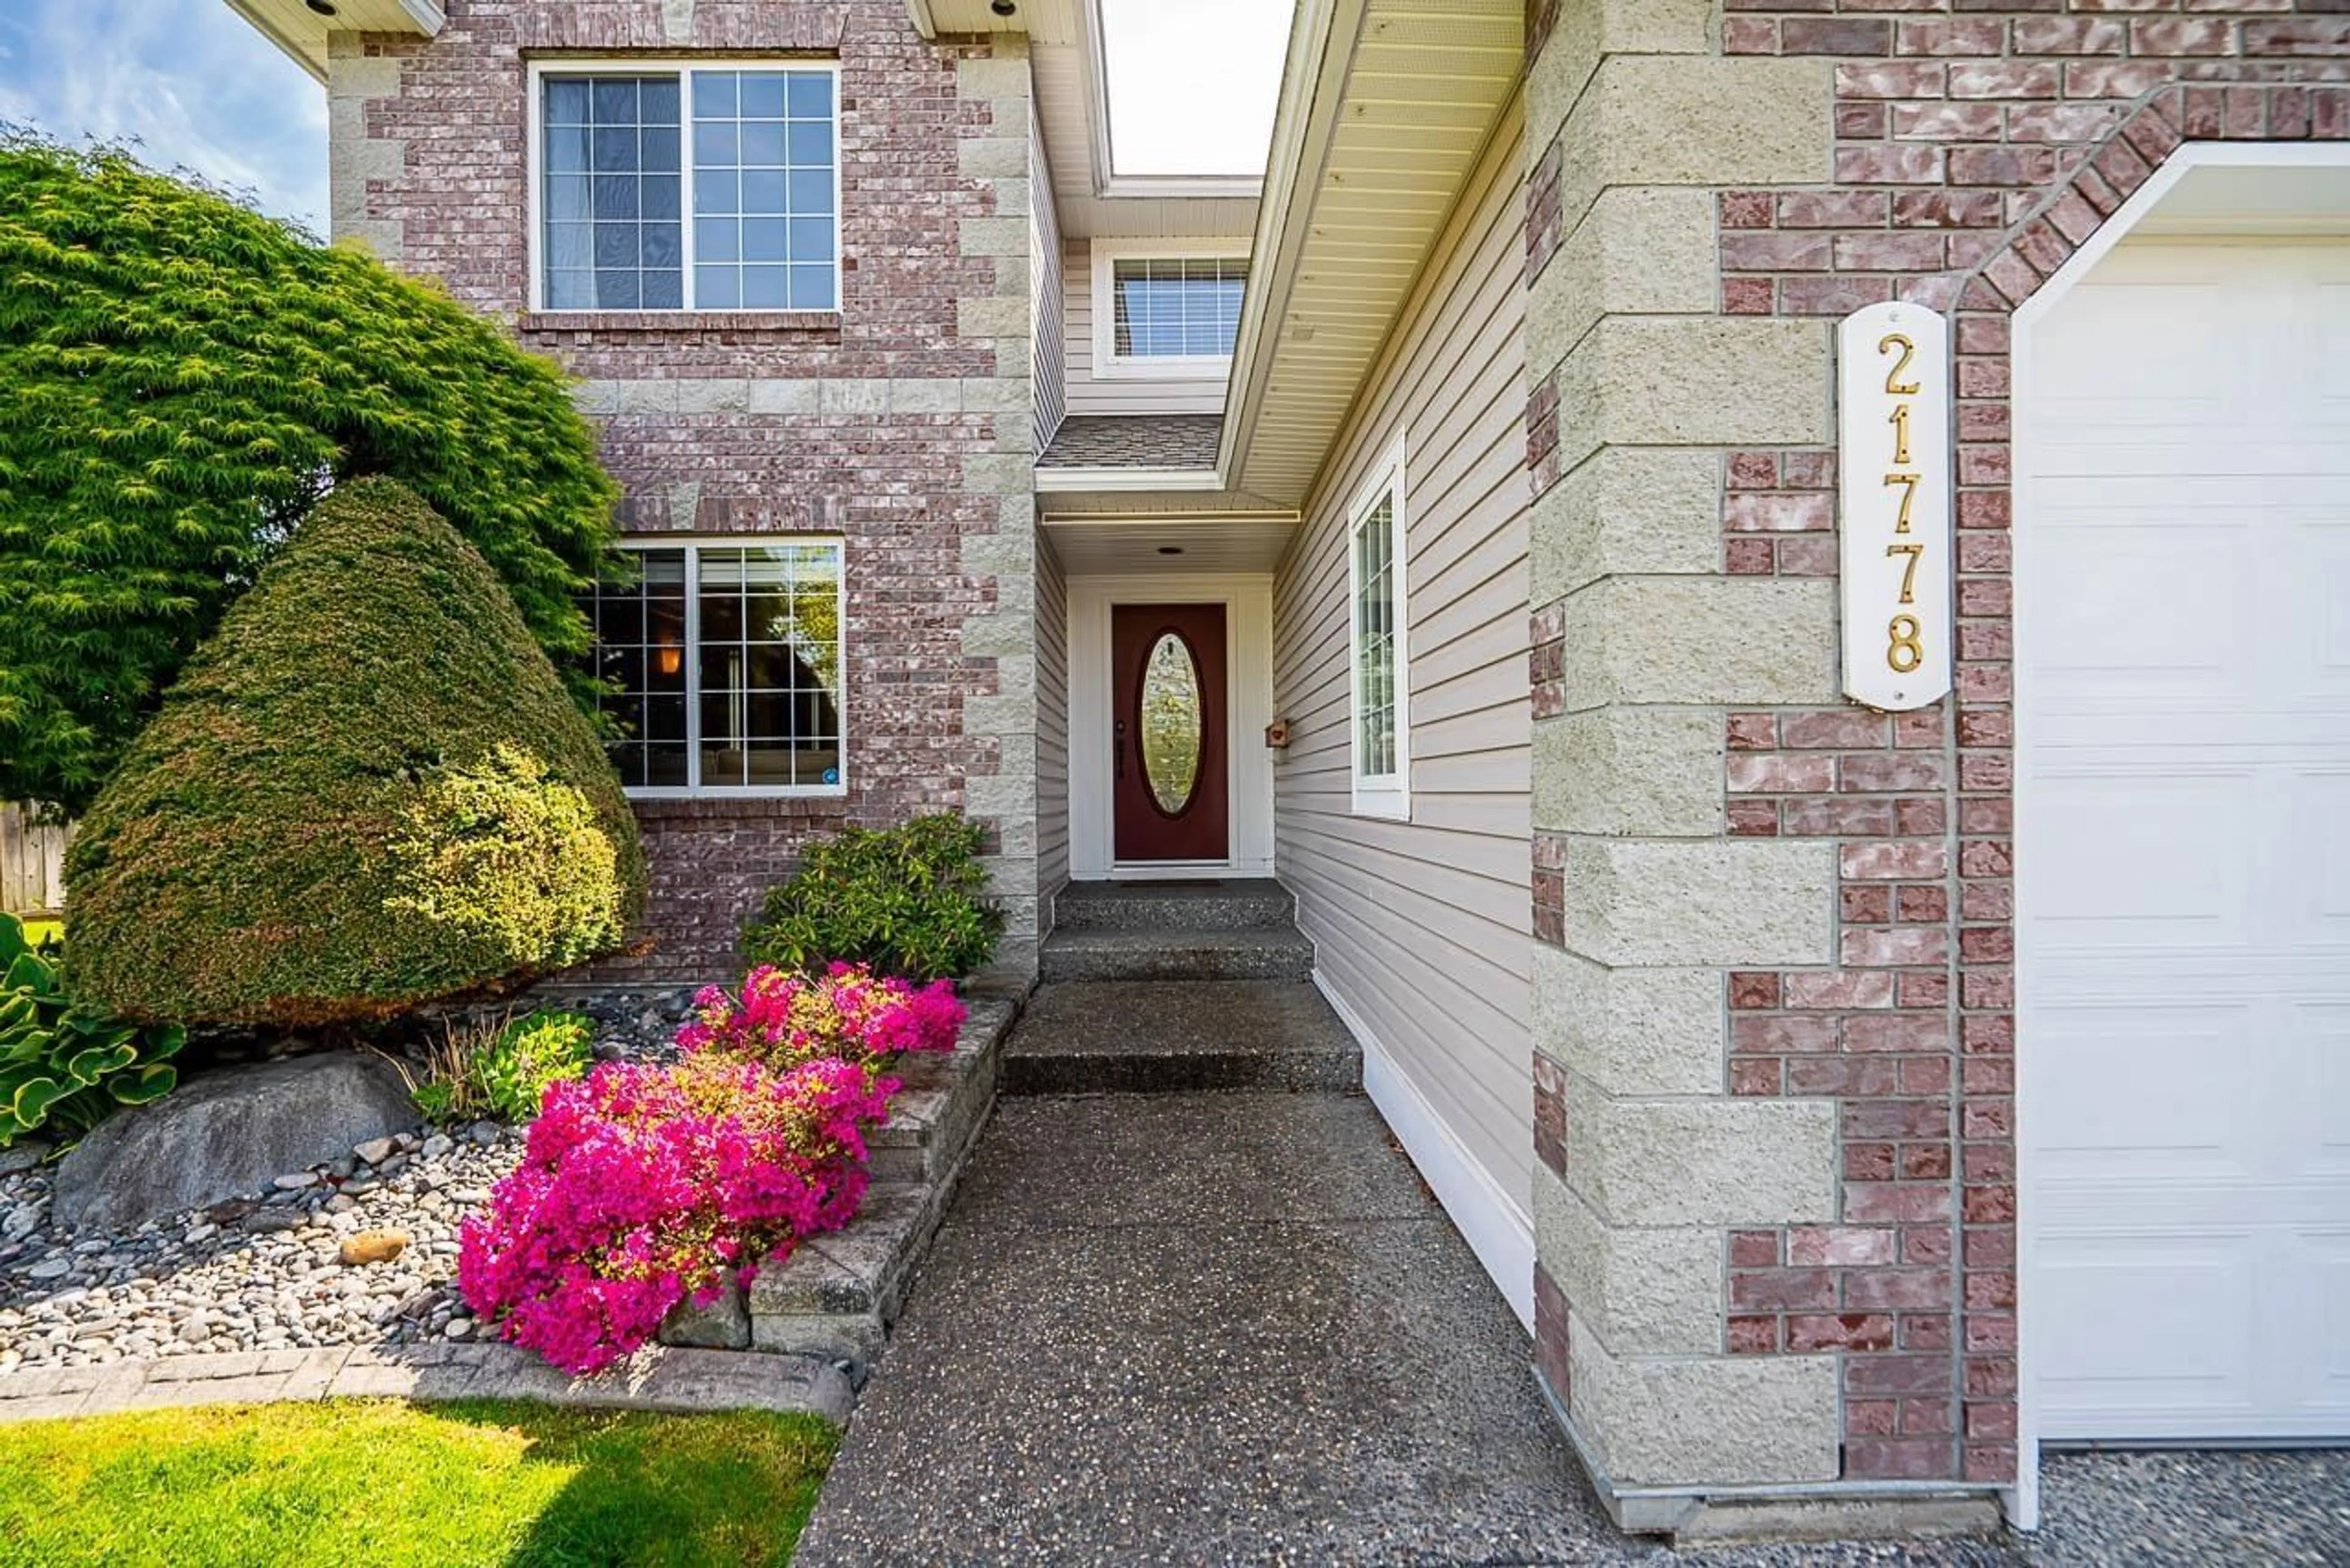
<svg viewBox="0 0 2350 1568"><path fill-rule="evenodd" d="M1292 0L1102 0L1119 174L1264 174Z"/></svg>

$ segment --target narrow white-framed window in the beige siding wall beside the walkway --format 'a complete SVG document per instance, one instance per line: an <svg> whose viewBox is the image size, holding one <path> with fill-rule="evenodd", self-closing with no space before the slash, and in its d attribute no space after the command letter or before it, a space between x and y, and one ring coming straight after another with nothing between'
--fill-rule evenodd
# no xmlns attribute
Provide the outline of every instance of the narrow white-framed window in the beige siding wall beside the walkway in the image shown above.
<svg viewBox="0 0 2350 1568"><path fill-rule="evenodd" d="M1354 809L1410 818L1410 670L1403 616L1403 454L1363 491L1347 527L1347 658Z"/></svg>

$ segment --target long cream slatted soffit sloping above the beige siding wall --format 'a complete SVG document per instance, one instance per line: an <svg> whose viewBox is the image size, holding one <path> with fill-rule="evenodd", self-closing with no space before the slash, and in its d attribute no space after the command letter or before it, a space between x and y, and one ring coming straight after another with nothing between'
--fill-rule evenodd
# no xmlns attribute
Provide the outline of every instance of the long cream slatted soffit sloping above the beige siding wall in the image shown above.
<svg viewBox="0 0 2350 1568"><path fill-rule="evenodd" d="M1234 489L1304 503L1523 61L1523 0L1304 0L1234 357Z"/></svg>

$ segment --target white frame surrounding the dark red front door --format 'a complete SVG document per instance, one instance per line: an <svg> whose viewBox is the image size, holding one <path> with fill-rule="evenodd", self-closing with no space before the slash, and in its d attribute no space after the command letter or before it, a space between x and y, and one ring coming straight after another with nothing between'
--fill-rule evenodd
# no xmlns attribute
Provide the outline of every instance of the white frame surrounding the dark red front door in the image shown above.
<svg viewBox="0 0 2350 1568"><path fill-rule="evenodd" d="M1112 811L1109 611L1116 604L1222 604L1231 856L1119 865ZM1274 578L1264 574L1137 574L1069 578L1069 877L1149 882L1274 875Z"/></svg>

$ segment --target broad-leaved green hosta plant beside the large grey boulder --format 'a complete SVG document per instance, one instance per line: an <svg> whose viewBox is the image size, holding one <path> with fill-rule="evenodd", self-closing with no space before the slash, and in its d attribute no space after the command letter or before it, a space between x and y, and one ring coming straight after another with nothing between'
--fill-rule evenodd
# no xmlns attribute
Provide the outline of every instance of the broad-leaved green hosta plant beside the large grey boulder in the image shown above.
<svg viewBox="0 0 2350 1568"><path fill-rule="evenodd" d="M118 1105L160 1100L179 1084L179 1025L141 1027L66 992L63 950L33 943L0 914L0 1150L26 1133L80 1138Z"/></svg>

